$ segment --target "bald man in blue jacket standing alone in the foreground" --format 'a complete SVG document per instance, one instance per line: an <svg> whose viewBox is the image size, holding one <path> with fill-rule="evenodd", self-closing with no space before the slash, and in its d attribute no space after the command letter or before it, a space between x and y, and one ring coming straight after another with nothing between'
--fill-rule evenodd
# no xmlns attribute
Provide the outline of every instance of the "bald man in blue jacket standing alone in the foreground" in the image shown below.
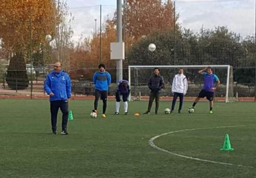
<svg viewBox="0 0 256 178"><path fill-rule="evenodd" d="M61 63L56 62L54 70L45 78L45 91L50 95L52 134L57 134L58 108L62 112L62 132L67 135L68 101L71 97L71 80L68 74L62 71Z"/></svg>

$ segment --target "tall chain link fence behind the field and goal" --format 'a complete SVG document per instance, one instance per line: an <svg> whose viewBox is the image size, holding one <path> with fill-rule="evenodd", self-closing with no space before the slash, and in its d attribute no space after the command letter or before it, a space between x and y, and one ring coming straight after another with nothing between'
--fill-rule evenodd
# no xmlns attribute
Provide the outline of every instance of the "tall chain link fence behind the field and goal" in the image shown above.
<svg viewBox="0 0 256 178"><path fill-rule="evenodd" d="M116 81L116 62L110 60L116 6L46 5L0 8L0 95L46 96L44 78L58 61L71 76L75 96L93 95L99 63ZM234 97L255 97L255 2L238 6L235 1L124 1L124 79L131 65L230 65ZM112 83L110 95L115 87Z"/></svg>

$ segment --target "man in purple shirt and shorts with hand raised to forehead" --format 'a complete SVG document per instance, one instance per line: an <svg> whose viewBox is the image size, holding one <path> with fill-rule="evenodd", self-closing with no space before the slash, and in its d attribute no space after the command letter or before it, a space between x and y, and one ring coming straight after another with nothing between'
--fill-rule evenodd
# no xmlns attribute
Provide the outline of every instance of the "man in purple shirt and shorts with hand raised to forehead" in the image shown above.
<svg viewBox="0 0 256 178"><path fill-rule="evenodd" d="M220 84L219 78L213 73L213 69L211 67L204 68L198 71L198 73L203 75L204 77L204 87L200 91L198 97L196 97L193 105L189 108L194 108L200 98L206 97L207 100L209 100L210 102L210 113L213 113L214 91L216 90L216 87Z"/></svg>

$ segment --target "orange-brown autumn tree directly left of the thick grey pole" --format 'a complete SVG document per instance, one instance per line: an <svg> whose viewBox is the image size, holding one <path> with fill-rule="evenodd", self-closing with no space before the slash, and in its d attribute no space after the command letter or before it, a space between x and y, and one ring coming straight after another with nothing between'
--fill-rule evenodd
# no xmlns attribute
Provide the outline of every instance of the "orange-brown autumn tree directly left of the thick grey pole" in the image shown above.
<svg viewBox="0 0 256 178"><path fill-rule="evenodd" d="M110 73L115 71L112 70L115 67L115 61L110 60L110 43L116 41L115 23L107 19L102 29L101 37L99 32L92 33L92 39L81 35L78 45L73 48L70 55L71 78L82 80L81 76L83 76L83 80L91 80L100 62L105 63Z"/></svg>

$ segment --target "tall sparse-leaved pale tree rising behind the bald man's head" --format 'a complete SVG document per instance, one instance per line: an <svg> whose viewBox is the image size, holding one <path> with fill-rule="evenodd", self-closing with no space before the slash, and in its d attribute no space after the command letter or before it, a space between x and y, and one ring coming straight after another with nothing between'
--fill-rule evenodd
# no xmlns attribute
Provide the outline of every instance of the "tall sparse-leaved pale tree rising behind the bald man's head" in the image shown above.
<svg viewBox="0 0 256 178"><path fill-rule="evenodd" d="M63 68L68 70L70 66L70 48L72 46L71 37L73 31L71 29L71 23L73 16L68 11L66 0L52 1L56 9L52 14L53 32L50 33L50 39L41 43L40 50L33 53L33 65L38 66L36 69L40 69L42 66L60 61Z"/></svg>

